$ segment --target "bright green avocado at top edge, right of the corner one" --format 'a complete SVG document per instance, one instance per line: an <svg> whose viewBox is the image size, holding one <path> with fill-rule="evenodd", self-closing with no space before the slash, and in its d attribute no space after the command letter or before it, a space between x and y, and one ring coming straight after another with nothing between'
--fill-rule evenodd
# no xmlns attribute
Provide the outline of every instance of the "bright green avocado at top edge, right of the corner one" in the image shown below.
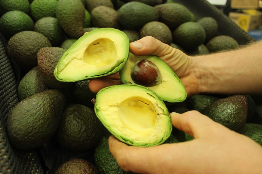
<svg viewBox="0 0 262 174"><path fill-rule="evenodd" d="M35 21L43 17L56 17L57 0L34 0L30 4L31 16Z"/></svg>

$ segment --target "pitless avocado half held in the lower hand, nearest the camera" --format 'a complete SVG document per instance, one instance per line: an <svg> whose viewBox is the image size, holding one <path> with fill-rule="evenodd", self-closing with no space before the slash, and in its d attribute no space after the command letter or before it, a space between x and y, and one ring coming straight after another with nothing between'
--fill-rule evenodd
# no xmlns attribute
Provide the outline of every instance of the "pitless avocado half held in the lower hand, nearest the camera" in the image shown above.
<svg viewBox="0 0 262 174"><path fill-rule="evenodd" d="M96 96L95 113L109 132L132 146L164 143L172 131L164 101L141 85L122 84L101 89Z"/></svg>

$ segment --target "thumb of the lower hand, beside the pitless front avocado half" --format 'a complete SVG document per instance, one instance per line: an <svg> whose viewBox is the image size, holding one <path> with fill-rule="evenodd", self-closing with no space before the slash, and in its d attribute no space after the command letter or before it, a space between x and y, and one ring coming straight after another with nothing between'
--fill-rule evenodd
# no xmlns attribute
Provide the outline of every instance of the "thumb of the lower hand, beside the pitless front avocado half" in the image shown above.
<svg viewBox="0 0 262 174"><path fill-rule="evenodd" d="M216 136L226 127L211 120L209 117L192 110L182 114L170 113L173 126L194 138Z"/></svg>

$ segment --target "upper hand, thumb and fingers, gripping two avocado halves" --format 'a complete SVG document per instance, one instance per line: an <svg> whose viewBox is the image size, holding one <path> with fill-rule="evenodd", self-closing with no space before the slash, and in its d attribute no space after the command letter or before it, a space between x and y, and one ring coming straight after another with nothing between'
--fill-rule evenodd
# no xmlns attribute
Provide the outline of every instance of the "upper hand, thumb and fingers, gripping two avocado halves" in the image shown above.
<svg viewBox="0 0 262 174"><path fill-rule="evenodd" d="M146 36L138 41L130 43L130 52L135 55L152 54L162 59L171 67L175 74L180 78L185 86L188 96L198 92L198 79L193 70L192 57L184 54L182 51L175 49L163 42ZM89 88L91 91L97 93L98 90L116 84L122 84L119 73L109 77L92 79L89 81Z"/></svg>

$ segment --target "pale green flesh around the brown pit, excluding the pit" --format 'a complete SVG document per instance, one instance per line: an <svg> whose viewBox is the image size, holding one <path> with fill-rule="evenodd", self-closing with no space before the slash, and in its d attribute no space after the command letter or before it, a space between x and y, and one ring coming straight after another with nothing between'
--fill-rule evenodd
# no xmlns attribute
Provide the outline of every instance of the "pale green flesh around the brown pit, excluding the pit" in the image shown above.
<svg viewBox="0 0 262 174"><path fill-rule="evenodd" d="M133 67L141 60L153 62L159 69L161 74L161 82L154 86L150 86L151 90L157 93L162 100L177 103L186 99L187 93L184 85L174 71L161 59L153 55L137 56L129 53L128 60L124 67L119 71L123 84L136 84L131 77Z"/></svg>

